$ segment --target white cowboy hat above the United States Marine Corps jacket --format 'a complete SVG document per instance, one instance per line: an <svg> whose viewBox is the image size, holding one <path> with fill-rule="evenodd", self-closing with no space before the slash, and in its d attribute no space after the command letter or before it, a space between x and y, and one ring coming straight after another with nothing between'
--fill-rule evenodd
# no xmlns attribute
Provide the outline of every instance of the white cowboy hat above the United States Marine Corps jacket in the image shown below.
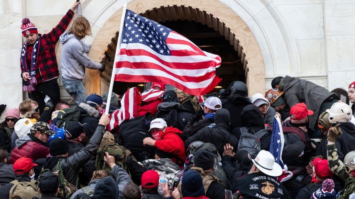
<svg viewBox="0 0 355 199"><path fill-rule="evenodd" d="M250 154L248 154L248 156L250 158ZM275 162L274 156L268 151L261 150L255 159L252 159L251 161L266 175L280 176L282 174L281 166Z"/></svg>

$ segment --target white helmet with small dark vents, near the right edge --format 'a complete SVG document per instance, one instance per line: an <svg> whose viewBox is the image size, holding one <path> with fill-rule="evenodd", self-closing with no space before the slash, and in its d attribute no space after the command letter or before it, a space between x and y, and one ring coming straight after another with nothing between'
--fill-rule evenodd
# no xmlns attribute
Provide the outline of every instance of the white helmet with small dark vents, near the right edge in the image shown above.
<svg viewBox="0 0 355 199"><path fill-rule="evenodd" d="M349 105L343 102L336 102L332 105L330 109L326 110L329 113L329 122L350 122L351 117L353 117L353 111Z"/></svg>

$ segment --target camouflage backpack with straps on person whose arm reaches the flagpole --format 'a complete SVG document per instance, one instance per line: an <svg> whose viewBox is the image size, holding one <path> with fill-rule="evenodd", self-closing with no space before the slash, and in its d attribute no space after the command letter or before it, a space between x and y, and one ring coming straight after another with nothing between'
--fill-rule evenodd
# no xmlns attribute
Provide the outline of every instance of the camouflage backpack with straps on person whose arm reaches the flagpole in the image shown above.
<svg viewBox="0 0 355 199"><path fill-rule="evenodd" d="M78 191L78 188L76 188L76 186L72 185L71 183L69 183L63 174L63 170L60 166L61 162L63 159L60 159L58 161L58 163L54 166L54 171L52 172L53 174L57 175L59 178L59 193L58 193L58 197L62 198L62 199L69 199L70 196L75 193L76 191ZM39 174L39 177L44 173L50 171L49 169L45 169L42 170L42 172ZM38 178L39 178L38 177ZM78 179L77 179L78 180ZM78 182L76 183L78 184Z"/></svg>

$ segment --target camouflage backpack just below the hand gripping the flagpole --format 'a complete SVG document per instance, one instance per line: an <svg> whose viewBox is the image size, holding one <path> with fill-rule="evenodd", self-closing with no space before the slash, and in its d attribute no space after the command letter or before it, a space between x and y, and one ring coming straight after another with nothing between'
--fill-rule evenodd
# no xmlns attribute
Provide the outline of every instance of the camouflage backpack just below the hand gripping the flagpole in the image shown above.
<svg viewBox="0 0 355 199"><path fill-rule="evenodd" d="M106 155L105 152L108 152L110 156L115 157L116 164L126 170L130 175L127 167L127 150L119 144L109 144L98 148L95 163L96 170L103 169L111 172L111 168L104 161L104 156Z"/></svg>

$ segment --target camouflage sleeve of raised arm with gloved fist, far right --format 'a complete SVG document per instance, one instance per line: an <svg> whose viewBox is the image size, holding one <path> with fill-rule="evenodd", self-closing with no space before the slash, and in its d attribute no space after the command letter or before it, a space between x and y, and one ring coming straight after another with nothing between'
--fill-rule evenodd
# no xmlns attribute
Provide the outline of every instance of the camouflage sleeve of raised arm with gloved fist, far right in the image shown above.
<svg viewBox="0 0 355 199"><path fill-rule="evenodd" d="M349 175L346 173L344 163L338 158L337 148L335 147L335 144L327 146L329 168L334 172L334 174L345 180L349 177Z"/></svg>

